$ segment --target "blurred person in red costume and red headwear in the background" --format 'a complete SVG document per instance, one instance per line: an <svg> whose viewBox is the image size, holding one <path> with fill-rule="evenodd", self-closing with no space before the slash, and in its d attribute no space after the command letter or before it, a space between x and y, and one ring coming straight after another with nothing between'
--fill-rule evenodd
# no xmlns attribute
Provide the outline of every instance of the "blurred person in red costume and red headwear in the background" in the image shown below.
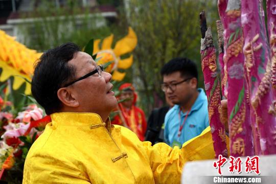
<svg viewBox="0 0 276 184"><path fill-rule="evenodd" d="M119 114L114 117L111 124L121 125L133 131L141 141L144 141L147 129L147 121L144 111L135 106L137 94L130 83L124 83L119 87L121 94L119 100L125 100L118 104Z"/></svg>

